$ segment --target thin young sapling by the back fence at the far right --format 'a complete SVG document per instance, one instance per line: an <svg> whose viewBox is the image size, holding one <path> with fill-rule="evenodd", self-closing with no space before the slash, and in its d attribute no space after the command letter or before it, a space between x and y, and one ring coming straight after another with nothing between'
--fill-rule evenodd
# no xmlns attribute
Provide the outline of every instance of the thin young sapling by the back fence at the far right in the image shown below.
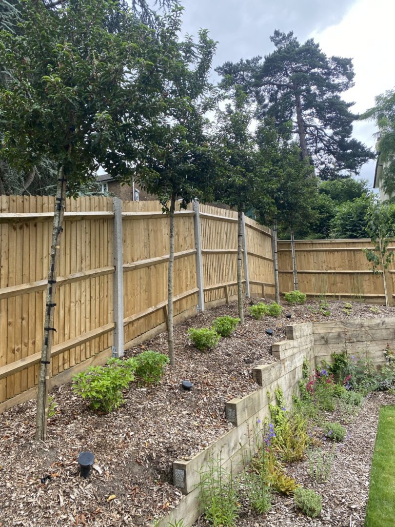
<svg viewBox="0 0 395 527"><path fill-rule="evenodd" d="M388 245L395 234L395 205L373 200L368 208L366 221L366 230L374 247L363 249L363 252L373 273L382 275L386 306L392 306L392 288L388 291L387 284L387 279L392 280L392 277L388 276L387 269L394 260L394 253L388 249Z"/></svg>

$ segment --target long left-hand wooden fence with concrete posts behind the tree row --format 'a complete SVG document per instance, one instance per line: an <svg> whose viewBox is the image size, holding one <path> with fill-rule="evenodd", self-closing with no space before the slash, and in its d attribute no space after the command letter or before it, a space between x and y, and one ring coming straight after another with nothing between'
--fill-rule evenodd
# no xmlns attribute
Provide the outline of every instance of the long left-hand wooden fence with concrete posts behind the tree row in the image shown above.
<svg viewBox="0 0 395 527"><path fill-rule="evenodd" d="M53 197L0 196L0 411L34 397L44 324ZM51 386L166 329L169 218L157 201L66 200ZM175 212L174 315L237 293L237 213ZM274 294L270 230L244 219L245 291ZM198 272L196 272L198 269ZM86 366L84 366L86 365Z"/></svg>

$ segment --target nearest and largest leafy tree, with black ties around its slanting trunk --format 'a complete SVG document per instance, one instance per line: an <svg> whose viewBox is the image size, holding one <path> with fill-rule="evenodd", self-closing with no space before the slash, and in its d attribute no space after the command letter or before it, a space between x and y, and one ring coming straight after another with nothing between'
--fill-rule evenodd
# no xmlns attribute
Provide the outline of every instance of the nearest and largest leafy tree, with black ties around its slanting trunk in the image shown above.
<svg viewBox="0 0 395 527"><path fill-rule="evenodd" d="M122 144L127 141L129 155L133 148L137 155L145 124L161 111L167 68L161 43L129 12L110 32L106 23L116 9L110 0L70 0L56 9L26 0L18 34L0 36L0 63L9 75L0 89L0 157L17 170L31 170L44 158L57 165L37 394L41 440L66 188L76 193L100 164L113 175L129 170Z"/></svg>

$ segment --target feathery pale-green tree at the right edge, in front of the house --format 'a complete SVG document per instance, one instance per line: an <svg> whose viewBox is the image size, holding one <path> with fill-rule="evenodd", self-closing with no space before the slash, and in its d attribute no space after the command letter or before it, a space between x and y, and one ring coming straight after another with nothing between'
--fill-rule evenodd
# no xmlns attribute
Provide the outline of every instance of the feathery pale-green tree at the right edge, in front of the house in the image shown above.
<svg viewBox="0 0 395 527"><path fill-rule="evenodd" d="M378 126L376 148L383 165L382 182L386 194L395 194L395 89L388 90L375 98L376 104L360 119L374 119Z"/></svg>

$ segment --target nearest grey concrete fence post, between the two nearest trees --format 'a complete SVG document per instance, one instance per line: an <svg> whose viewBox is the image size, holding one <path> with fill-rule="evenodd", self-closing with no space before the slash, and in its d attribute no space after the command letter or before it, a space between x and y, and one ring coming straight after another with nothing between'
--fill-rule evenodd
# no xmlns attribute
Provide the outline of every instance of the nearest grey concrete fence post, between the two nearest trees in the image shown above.
<svg viewBox="0 0 395 527"><path fill-rule="evenodd" d="M113 198L114 208L114 345L113 357L123 355L123 247L122 247L122 201Z"/></svg>

